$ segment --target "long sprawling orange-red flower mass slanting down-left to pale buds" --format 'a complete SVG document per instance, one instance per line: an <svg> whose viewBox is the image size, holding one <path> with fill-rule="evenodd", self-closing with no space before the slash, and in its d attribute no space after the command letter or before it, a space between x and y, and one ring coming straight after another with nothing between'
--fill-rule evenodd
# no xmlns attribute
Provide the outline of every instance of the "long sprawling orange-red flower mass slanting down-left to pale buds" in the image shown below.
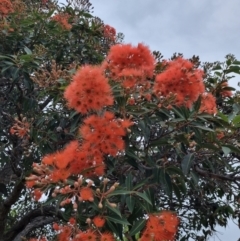
<svg viewBox="0 0 240 241"><path fill-rule="evenodd" d="M116 156L119 151L124 150L122 139L126 134L126 128L133 123L129 120L116 119L111 112L105 112L101 116L92 115L85 119L80 128L83 137L82 145L77 141L70 142L64 150L46 155L42 164L33 164L33 171L36 175L26 178L28 188L36 187L34 196L36 200L42 195L43 190L53 183L62 182L75 175L74 178L82 175L84 178L102 176L105 172L104 155ZM112 190L110 190L112 191ZM71 203L70 197L76 197L78 201L94 200L94 193L91 185L82 186L82 178L70 187L56 189L53 196L58 194L67 195L61 202L61 206ZM77 207L75 202L74 207Z"/></svg>

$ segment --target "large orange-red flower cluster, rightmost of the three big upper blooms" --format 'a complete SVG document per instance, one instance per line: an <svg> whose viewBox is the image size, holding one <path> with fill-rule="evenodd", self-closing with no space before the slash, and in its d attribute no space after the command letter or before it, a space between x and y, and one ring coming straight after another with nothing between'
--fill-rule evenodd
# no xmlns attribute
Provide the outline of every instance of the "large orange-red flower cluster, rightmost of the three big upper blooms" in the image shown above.
<svg viewBox="0 0 240 241"><path fill-rule="evenodd" d="M175 104L188 108L204 91L203 71L193 69L193 64L183 58L168 62L166 70L156 76L154 85L156 96L168 97L174 94Z"/></svg>

